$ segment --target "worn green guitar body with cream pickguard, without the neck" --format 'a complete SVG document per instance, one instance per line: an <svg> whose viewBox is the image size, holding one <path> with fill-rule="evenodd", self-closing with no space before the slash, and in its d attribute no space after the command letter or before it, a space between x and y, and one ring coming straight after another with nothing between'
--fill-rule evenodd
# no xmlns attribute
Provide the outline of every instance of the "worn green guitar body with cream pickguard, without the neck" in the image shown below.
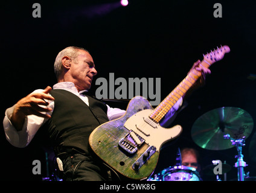
<svg viewBox="0 0 256 193"><path fill-rule="evenodd" d="M110 167L130 179L146 179L158 163L162 144L178 136L182 128L163 128L149 118L153 108L149 101L136 96L126 113L92 131L92 150Z"/></svg>

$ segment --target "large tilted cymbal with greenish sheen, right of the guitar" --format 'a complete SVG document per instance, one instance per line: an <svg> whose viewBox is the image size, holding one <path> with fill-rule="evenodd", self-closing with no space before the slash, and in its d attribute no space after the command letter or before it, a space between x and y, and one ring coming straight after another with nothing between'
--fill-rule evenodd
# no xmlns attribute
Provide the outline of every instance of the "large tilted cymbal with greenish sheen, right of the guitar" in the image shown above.
<svg viewBox="0 0 256 193"><path fill-rule="evenodd" d="M254 121L251 115L237 107L220 107L200 116L193 124L191 136L199 147L207 150L226 150L234 147L224 134L231 138L245 139L252 133Z"/></svg>

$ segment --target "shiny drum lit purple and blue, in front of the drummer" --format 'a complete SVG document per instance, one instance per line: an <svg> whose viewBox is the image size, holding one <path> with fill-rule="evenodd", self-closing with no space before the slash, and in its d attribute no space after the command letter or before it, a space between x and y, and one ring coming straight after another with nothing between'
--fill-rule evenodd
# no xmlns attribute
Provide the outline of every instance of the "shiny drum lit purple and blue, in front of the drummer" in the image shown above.
<svg viewBox="0 0 256 193"><path fill-rule="evenodd" d="M159 174L149 177L147 181L201 181L201 179L195 168L181 165L166 168Z"/></svg>

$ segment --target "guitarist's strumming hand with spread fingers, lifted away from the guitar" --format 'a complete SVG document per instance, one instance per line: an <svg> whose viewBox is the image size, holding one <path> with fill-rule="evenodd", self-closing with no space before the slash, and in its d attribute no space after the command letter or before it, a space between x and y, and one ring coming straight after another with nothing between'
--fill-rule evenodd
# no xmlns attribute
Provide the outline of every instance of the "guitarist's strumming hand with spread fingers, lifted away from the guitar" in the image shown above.
<svg viewBox="0 0 256 193"><path fill-rule="evenodd" d="M27 115L36 115L43 118L50 118L51 116L47 113L42 112L50 112L51 109L48 106L48 102L45 100L54 100L53 96L49 95L51 87L47 86L43 92L33 92L29 95L25 96L21 100L16 103L13 111L13 115L11 116L11 123L14 125L16 130L21 130L25 121L25 117Z"/></svg>

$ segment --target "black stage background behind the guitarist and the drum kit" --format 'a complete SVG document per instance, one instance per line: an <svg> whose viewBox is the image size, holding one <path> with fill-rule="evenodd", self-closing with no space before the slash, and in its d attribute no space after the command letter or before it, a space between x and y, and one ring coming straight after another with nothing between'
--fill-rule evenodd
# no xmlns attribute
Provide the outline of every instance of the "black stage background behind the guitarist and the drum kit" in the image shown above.
<svg viewBox="0 0 256 193"><path fill-rule="evenodd" d="M42 17L32 16L32 5L41 5ZM213 5L222 4L222 18ZM175 163L176 151L196 148L202 168L220 159L232 166L227 179L235 179L235 148L205 150L191 139L194 121L219 107L239 107L256 120L255 1L152 1L133 0L127 7L118 1L5 1L1 2L1 115L19 99L53 86L53 63L66 46L91 52L97 77L161 78L161 100L187 75L191 66L211 49L228 45L231 52L211 66L206 85L188 98L188 106L173 125L181 136L161 151L156 172ZM95 77L95 78L97 78ZM95 80L95 79L94 79ZM95 83L95 81L94 81ZM97 86L93 86L93 95ZM126 109L127 103L110 103ZM243 148L245 168L256 176L255 127ZM254 134L254 135L253 135ZM46 175L45 150L35 142L15 148L1 130L1 180L41 180ZM33 160L42 163L42 174L32 174ZM51 164L51 163L50 163ZM203 176L203 174L202 174ZM214 180L214 176L204 176ZM223 178L223 176L221 176Z"/></svg>

